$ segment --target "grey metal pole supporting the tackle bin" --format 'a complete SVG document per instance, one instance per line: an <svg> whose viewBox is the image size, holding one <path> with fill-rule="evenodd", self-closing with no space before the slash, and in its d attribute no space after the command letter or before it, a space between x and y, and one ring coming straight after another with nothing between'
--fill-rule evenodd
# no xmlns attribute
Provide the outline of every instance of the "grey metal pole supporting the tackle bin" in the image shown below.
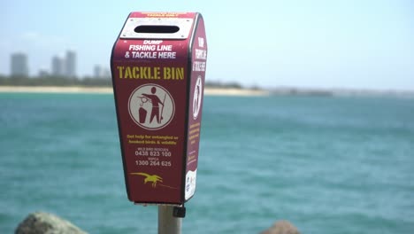
<svg viewBox="0 0 414 234"><path fill-rule="evenodd" d="M182 218L173 216L173 206L158 206L158 234L181 234Z"/></svg>

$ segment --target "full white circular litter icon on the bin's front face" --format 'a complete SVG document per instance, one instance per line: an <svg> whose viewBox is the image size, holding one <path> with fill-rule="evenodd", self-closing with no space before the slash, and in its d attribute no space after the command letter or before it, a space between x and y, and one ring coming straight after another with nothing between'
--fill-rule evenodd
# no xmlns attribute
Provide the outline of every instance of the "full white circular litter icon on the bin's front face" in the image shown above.
<svg viewBox="0 0 414 234"><path fill-rule="evenodd" d="M164 87L149 83L136 88L129 96L129 115L143 129L157 130L173 120L173 97Z"/></svg>

